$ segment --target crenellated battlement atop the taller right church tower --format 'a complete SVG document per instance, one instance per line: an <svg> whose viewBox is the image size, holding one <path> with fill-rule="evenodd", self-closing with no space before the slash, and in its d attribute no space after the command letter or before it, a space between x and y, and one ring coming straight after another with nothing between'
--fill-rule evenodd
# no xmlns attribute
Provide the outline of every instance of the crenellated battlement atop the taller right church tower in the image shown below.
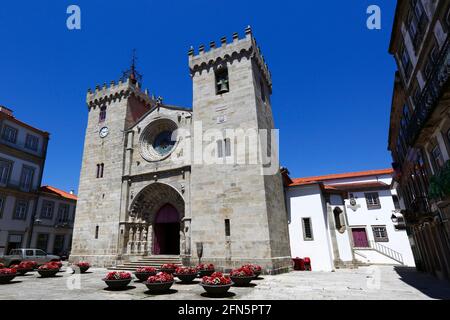
<svg viewBox="0 0 450 320"><path fill-rule="evenodd" d="M217 46L215 41L211 41L209 43L209 50L205 50L205 45L202 44L198 47L197 52L194 47L191 47L188 55L189 68L192 76L223 61L232 62L242 55L248 55L258 64L270 90L272 90L272 76L269 67L264 60L264 56L253 36L250 26L245 29L244 38L240 39L239 34L235 32L233 33L232 42L228 42L226 37L222 37L220 39L220 46Z"/></svg>

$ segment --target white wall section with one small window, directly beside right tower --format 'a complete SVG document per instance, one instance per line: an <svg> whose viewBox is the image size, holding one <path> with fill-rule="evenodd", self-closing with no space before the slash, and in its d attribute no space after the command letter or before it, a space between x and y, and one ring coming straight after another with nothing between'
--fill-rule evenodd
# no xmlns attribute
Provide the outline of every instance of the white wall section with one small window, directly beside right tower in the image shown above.
<svg viewBox="0 0 450 320"><path fill-rule="evenodd" d="M311 259L313 271L333 270L333 259L319 185L292 187L287 190L290 213L289 237L292 257ZM311 218L313 240L303 237L302 218Z"/></svg>

